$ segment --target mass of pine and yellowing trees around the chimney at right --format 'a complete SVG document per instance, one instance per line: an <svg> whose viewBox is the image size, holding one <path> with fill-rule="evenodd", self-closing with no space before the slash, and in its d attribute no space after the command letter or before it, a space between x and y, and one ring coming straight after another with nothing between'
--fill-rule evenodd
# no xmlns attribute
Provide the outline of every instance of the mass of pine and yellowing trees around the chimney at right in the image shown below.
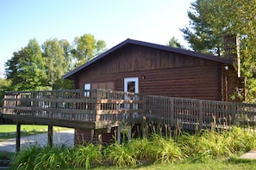
<svg viewBox="0 0 256 170"><path fill-rule="evenodd" d="M256 96L256 0L197 0L188 12L190 27L181 29L195 51L223 53L223 35L240 39L241 73L247 77L247 100Z"/></svg>

